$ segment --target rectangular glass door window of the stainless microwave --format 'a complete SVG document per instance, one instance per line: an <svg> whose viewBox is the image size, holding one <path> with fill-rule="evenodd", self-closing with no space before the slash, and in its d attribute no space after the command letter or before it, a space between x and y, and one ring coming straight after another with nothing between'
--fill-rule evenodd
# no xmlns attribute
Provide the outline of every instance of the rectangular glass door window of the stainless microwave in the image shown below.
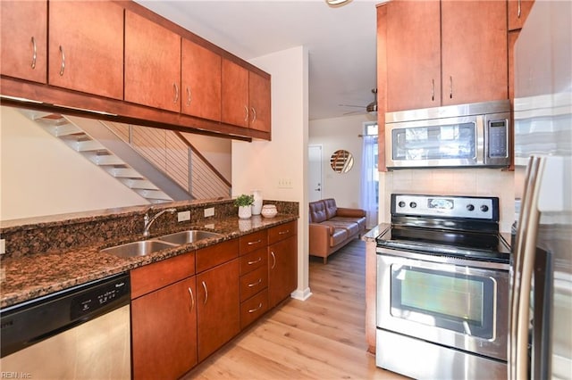
<svg viewBox="0 0 572 380"><path fill-rule="evenodd" d="M392 158L398 160L475 160L474 122L445 126L394 128Z"/></svg>

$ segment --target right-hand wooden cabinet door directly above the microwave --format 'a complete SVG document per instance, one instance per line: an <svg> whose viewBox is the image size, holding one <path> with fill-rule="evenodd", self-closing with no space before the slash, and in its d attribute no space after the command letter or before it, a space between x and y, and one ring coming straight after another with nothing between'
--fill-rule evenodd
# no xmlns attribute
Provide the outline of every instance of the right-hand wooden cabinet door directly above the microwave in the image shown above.
<svg viewBox="0 0 572 380"><path fill-rule="evenodd" d="M442 1L442 104L509 98L507 4Z"/></svg>

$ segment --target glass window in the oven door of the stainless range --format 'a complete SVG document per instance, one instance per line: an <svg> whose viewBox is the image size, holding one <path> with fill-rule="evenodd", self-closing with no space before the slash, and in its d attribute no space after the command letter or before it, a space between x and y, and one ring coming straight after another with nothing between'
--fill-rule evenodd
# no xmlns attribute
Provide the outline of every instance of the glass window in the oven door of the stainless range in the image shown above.
<svg viewBox="0 0 572 380"><path fill-rule="evenodd" d="M494 335L495 282L403 265L391 266L391 315L465 335Z"/></svg>

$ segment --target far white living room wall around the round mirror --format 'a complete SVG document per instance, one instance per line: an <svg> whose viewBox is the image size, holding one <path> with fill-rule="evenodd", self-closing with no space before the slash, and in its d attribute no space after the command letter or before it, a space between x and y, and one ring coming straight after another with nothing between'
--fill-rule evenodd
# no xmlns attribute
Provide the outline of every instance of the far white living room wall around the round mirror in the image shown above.
<svg viewBox="0 0 572 380"><path fill-rule="evenodd" d="M377 121L376 115L362 114L342 118L311 120L309 145L322 145L324 181L323 198L334 198L338 207L359 208L360 171L362 163L363 124ZM347 173L336 173L330 167L330 156L343 149L354 157L354 166Z"/></svg>

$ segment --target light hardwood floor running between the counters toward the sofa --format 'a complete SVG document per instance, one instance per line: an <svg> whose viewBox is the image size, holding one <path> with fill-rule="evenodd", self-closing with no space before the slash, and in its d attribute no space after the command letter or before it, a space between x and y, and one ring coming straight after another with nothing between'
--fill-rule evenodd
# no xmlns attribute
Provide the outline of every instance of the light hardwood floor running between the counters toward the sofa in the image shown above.
<svg viewBox="0 0 572 380"><path fill-rule="evenodd" d="M366 352L365 276L361 240L310 258L306 302L283 302L184 379L404 379Z"/></svg>

